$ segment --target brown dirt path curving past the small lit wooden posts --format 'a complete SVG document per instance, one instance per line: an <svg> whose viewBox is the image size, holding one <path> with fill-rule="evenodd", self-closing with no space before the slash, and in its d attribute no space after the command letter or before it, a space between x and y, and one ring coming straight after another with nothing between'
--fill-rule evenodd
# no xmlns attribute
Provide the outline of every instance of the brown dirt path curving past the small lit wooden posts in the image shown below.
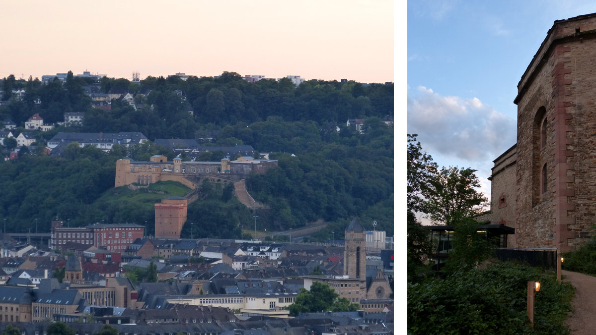
<svg viewBox="0 0 596 335"><path fill-rule="evenodd" d="M596 333L596 277L566 270L561 270L561 274L576 289L571 302L573 314L567 319L570 335Z"/></svg>

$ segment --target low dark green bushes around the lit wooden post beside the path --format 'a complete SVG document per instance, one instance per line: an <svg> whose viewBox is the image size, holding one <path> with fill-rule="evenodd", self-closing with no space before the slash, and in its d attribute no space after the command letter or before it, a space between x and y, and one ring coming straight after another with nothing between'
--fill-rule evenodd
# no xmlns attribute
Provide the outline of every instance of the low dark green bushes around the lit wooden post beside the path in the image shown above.
<svg viewBox="0 0 596 335"><path fill-rule="evenodd" d="M527 281L537 280L534 328L526 316ZM408 330L414 334L567 334L575 291L553 273L511 263L408 283Z"/></svg>

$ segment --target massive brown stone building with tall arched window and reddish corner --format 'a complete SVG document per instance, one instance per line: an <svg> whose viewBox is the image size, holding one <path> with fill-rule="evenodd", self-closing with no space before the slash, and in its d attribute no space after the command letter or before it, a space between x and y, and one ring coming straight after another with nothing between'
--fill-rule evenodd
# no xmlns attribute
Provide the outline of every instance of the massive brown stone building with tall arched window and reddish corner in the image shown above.
<svg viewBox="0 0 596 335"><path fill-rule="evenodd" d="M570 251L589 238L596 215L595 37L596 13L555 21L517 85L517 143L504 154L510 158L495 161L491 203L491 212L502 213L492 220L516 228L513 246Z"/></svg>

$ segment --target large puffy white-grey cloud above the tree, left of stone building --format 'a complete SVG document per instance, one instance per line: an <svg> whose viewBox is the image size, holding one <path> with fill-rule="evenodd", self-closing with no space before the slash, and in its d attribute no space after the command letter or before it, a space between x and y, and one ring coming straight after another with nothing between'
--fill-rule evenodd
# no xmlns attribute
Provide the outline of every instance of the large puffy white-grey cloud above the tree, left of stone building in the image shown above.
<svg viewBox="0 0 596 335"><path fill-rule="evenodd" d="M442 96L419 86L408 92L408 133L418 134L423 148L486 166L516 142L516 121L478 98Z"/></svg>

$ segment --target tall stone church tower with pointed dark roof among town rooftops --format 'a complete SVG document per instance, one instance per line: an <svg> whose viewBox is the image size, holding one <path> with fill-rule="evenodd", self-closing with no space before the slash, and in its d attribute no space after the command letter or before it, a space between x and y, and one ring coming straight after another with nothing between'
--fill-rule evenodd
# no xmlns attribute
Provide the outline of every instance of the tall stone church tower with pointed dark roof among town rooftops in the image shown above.
<svg viewBox="0 0 596 335"><path fill-rule="evenodd" d="M354 218L344 231L343 274L348 278L367 277L367 232Z"/></svg>

